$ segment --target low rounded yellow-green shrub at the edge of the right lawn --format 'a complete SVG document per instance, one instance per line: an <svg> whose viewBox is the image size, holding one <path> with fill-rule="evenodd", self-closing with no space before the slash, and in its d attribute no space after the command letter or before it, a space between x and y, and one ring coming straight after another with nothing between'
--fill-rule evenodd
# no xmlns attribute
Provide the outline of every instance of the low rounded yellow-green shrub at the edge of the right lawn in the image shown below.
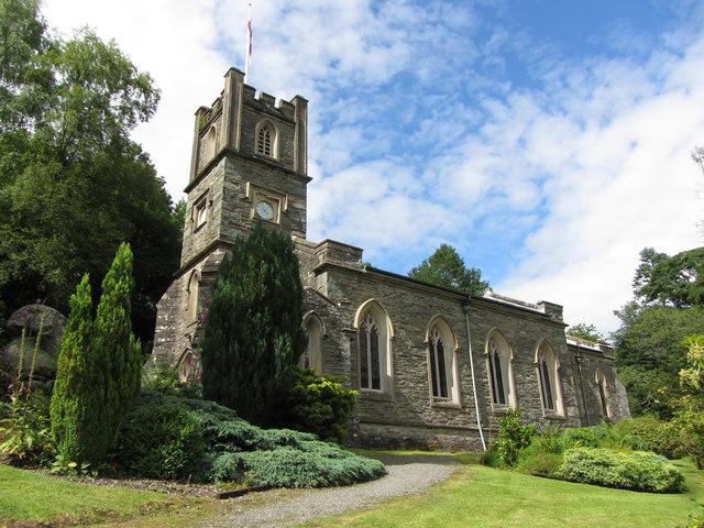
<svg viewBox="0 0 704 528"><path fill-rule="evenodd" d="M576 448L563 453L559 479L637 492L678 493L684 477L662 457L634 451Z"/></svg>

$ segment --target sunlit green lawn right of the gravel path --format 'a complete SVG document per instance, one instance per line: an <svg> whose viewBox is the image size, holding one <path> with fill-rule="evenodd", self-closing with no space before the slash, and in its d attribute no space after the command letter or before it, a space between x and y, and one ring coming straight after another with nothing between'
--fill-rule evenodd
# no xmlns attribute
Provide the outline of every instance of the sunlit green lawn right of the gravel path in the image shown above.
<svg viewBox="0 0 704 528"><path fill-rule="evenodd" d="M309 522L316 527L548 528L685 526L694 499L704 501L704 475L678 462L689 491L658 495L608 490L468 464L424 495L384 503L369 512Z"/></svg>

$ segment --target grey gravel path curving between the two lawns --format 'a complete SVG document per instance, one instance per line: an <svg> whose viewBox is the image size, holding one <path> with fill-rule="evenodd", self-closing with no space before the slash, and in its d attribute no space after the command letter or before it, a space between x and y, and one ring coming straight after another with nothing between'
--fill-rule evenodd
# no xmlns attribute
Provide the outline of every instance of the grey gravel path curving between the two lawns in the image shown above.
<svg viewBox="0 0 704 528"><path fill-rule="evenodd" d="M446 457L384 457L388 474L377 481L321 490L272 490L230 499L230 510L198 528L268 528L306 522L350 509L371 508L389 497L422 492L448 479L457 463ZM257 496L265 495L265 496Z"/></svg>

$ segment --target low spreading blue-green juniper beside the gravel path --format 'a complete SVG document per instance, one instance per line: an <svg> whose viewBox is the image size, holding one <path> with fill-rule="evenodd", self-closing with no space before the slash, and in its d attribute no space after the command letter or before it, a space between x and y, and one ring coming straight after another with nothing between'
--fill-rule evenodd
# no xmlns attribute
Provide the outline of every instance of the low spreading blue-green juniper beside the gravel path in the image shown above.
<svg viewBox="0 0 704 528"><path fill-rule="evenodd" d="M209 481L318 487L348 485L384 474L378 461L321 442L311 433L260 429L213 402L143 391L132 414L173 406L185 409L200 431L206 447L201 476ZM129 427L125 420L125 428ZM127 449L131 442L124 431L121 438L121 449Z"/></svg>

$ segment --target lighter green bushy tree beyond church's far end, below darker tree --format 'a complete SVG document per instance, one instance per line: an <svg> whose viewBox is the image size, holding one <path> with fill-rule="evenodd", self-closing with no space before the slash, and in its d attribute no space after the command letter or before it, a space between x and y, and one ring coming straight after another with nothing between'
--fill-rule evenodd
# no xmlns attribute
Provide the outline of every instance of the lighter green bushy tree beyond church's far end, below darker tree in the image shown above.
<svg viewBox="0 0 704 528"><path fill-rule="evenodd" d="M670 418L667 400L682 394L679 373L686 366L682 340L704 328L704 307L639 308L630 304L617 315L622 327L613 336L614 355L631 414Z"/></svg>

